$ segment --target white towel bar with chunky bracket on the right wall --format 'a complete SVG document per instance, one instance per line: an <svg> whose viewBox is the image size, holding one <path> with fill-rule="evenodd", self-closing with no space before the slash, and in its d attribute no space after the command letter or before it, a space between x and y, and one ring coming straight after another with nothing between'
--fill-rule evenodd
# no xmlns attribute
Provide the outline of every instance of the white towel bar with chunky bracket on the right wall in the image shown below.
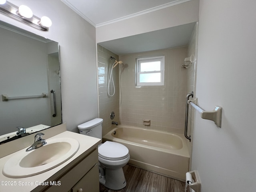
<svg viewBox="0 0 256 192"><path fill-rule="evenodd" d="M205 111L197 105L197 98L194 100L188 100L188 104L194 107L197 111L201 113L201 118L214 121L214 123L221 128L222 121L222 107L215 106L212 111Z"/></svg>

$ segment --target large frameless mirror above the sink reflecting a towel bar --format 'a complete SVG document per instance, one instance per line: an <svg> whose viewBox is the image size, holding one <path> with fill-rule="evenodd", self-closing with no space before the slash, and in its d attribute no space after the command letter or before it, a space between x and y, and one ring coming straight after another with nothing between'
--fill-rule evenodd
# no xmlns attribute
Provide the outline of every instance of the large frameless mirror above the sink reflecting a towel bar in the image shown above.
<svg viewBox="0 0 256 192"><path fill-rule="evenodd" d="M61 124L62 114L58 43L2 21L0 34L3 144Z"/></svg>

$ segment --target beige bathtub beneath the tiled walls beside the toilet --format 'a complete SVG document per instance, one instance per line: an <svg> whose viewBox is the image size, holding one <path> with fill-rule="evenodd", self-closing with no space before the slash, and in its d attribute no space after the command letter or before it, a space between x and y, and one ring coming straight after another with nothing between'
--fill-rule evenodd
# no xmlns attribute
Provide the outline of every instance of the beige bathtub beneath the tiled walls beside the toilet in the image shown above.
<svg viewBox="0 0 256 192"><path fill-rule="evenodd" d="M190 156L182 134L118 125L104 135L102 141L126 146L130 153L129 164L186 180Z"/></svg>

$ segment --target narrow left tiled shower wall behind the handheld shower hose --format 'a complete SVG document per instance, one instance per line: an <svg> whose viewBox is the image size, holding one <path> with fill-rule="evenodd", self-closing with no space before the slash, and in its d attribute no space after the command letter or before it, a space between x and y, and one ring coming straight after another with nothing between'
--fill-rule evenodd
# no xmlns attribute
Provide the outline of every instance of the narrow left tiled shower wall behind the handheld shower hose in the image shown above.
<svg viewBox="0 0 256 192"><path fill-rule="evenodd" d="M115 84L115 94L110 97L107 94L107 86L110 78L110 72L114 60L110 59L110 56L118 60L118 55L110 52L106 48L98 45L98 99L99 99L99 118L103 119L102 135L108 133L115 125L112 125L112 121L119 123L119 74L118 67L113 69L113 80ZM110 94L114 92L112 80L110 81ZM110 113L114 111L115 117L110 119Z"/></svg>

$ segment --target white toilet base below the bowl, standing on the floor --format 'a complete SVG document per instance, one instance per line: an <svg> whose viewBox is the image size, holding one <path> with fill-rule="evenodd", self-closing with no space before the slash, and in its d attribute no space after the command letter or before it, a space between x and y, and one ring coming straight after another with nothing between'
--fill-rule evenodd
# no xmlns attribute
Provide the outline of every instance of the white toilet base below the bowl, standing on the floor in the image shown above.
<svg viewBox="0 0 256 192"><path fill-rule="evenodd" d="M123 168L104 169L105 176L100 176L100 184L112 190L120 190L126 186Z"/></svg>

